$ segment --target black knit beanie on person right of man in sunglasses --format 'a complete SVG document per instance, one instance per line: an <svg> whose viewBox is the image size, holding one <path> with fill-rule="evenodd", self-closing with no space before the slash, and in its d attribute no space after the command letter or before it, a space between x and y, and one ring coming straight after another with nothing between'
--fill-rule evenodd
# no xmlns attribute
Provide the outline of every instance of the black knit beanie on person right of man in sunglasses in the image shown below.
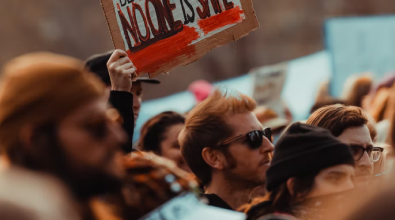
<svg viewBox="0 0 395 220"><path fill-rule="evenodd" d="M348 145L338 141L324 128L299 122L288 128L274 149L274 156L266 173L268 191L292 177L304 176L340 164L355 164Z"/></svg>

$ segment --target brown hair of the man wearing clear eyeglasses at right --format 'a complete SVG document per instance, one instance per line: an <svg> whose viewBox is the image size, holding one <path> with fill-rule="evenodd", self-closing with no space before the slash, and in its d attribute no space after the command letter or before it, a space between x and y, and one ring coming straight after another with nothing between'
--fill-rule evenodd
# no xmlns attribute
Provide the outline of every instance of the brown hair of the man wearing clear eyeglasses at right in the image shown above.
<svg viewBox="0 0 395 220"><path fill-rule="evenodd" d="M373 141L377 136L371 120L362 108L356 106L336 104L322 107L311 114L306 124L326 128L335 137L341 135L347 128L366 125Z"/></svg>

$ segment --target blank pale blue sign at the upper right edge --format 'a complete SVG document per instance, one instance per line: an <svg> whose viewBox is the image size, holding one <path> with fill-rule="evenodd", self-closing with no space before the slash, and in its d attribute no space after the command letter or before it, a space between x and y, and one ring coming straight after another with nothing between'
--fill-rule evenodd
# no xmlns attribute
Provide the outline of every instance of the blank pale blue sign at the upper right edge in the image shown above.
<svg viewBox="0 0 395 220"><path fill-rule="evenodd" d="M325 41L332 58L332 96L340 97L347 78L372 72L375 79L395 71L395 16L331 18Z"/></svg>

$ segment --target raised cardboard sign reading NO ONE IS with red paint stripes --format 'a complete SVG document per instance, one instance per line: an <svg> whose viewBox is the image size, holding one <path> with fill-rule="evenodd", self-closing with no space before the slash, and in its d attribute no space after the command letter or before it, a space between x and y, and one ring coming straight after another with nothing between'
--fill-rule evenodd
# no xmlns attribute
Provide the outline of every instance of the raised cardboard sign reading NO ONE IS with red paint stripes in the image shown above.
<svg viewBox="0 0 395 220"><path fill-rule="evenodd" d="M101 0L114 46L154 77L198 60L259 24L251 0Z"/></svg>

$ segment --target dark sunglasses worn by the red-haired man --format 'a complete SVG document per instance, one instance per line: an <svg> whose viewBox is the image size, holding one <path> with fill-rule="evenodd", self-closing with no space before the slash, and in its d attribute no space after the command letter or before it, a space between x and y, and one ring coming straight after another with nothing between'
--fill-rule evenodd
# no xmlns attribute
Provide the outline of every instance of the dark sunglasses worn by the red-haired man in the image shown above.
<svg viewBox="0 0 395 220"><path fill-rule="evenodd" d="M241 134L241 135L233 137L229 140L226 140L219 146L228 145L228 144L233 143L243 137L247 138L248 145L252 149L258 149L262 146L263 137L267 138L270 142L272 142L272 131L270 128L264 128L263 130L250 131L247 134Z"/></svg>

